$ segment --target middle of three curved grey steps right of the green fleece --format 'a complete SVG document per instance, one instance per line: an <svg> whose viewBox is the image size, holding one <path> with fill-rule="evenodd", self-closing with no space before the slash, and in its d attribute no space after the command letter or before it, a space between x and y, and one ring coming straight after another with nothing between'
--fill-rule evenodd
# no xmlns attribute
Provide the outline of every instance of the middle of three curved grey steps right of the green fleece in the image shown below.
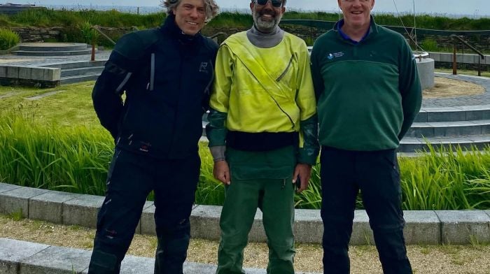
<svg viewBox="0 0 490 274"><path fill-rule="evenodd" d="M490 134L490 120L414 122L407 137L471 136Z"/></svg>

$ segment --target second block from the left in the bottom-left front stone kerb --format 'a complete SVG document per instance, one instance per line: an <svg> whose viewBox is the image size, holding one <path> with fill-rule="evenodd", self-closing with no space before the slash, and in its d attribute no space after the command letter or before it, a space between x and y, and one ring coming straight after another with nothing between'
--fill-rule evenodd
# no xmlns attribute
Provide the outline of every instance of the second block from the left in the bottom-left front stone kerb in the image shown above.
<svg viewBox="0 0 490 274"><path fill-rule="evenodd" d="M90 263L89 250L50 246L20 262L20 274L80 273Z"/></svg>

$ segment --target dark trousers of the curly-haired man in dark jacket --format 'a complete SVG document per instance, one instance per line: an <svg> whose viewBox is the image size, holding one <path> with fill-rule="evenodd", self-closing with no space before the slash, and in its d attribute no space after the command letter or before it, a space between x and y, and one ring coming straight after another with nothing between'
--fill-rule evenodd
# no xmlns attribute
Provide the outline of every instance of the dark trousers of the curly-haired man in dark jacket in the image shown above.
<svg viewBox="0 0 490 274"><path fill-rule="evenodd" d="M182 274L200 164L197 152L186 159L160 160L116 148L88 273L120 273L144 203L153 190L158 238L155 274Z"/></svg>

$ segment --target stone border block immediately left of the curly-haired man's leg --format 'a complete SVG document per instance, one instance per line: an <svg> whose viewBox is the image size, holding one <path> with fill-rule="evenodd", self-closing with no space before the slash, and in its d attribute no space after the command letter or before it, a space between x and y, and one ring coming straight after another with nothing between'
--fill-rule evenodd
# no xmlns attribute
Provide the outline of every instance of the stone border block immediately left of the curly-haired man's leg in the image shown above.
<svg viewBox="0 0 490 274"><path fill-rule="evenodd" d="M97 213L104 203L103 196L82 195L63 203L63 224L95 228Z"/></svg>

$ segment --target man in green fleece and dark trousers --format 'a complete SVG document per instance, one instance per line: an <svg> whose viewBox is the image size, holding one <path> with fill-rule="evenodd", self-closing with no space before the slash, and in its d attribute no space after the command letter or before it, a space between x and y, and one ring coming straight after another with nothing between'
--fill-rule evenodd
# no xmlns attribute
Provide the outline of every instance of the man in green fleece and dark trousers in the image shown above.
<svg viewBox="0 0 490 274"><path fill-rule="evenodd" d="M349 273L360 190L384 273L412 273L396 149L421 106L405 39L374 23L374 0L337 0L344 19L311 52L321 147L324 273Z"/></svg>

